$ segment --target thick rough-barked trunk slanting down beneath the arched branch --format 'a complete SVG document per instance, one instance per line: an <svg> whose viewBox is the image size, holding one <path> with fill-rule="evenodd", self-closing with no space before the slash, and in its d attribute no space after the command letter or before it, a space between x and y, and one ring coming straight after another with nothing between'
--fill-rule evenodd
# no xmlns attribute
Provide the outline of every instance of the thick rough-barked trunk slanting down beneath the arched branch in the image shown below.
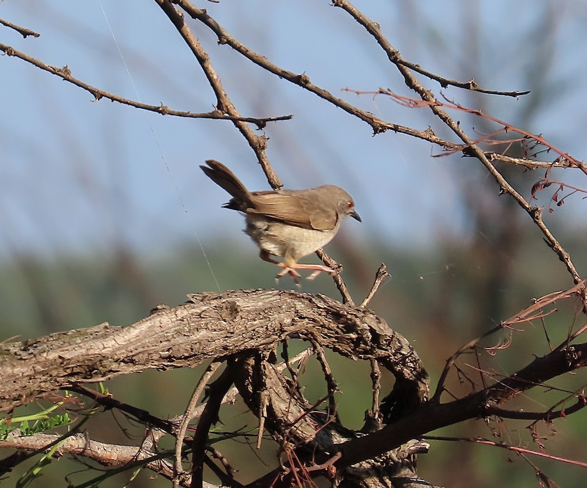
<svg viewBox="0 0 587 488"><path fill-rule="evenodd" d="M266 361L264 354L242 354L230 364L236 372L235 385L239 393L248 408L265 420L264 425L287 459L285 471L281 467L272 470L248 487L289 487L296 475L302 473L310 478L329 477L335 466L329 458L336 452L336 445L356 440L357 434L305 399L291 395L292 380L281 375L275 365ZM427 452L426 443L410 440L390 452L382 450L369 461L345 466L336 472L336 477L342 483L340 486L355 488L396 486L393 483L406 488L430 486L420 483L416 476L413 455L423 452ZM325 457L321 465L315 463L318 457ZM291 459L298 463L292 464Z"/></svg>

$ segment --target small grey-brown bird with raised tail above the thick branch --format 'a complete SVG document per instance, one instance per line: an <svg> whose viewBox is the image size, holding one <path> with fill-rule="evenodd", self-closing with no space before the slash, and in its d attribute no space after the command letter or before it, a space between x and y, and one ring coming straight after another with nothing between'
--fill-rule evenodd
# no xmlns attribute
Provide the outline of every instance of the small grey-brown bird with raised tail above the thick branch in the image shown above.
<svg viewBox="0 0 587 488"><path fill-rule="evenodd" d="M308 190L249 191L224 164L213 159L200 166L208 177L232 195L222 207L245 214L244 232L257 243L262 260L282 268L277 278L289 273L297 283L296 270L314 270L308 277L315 278L321 271L336 274L321 264L300 264L298 260L328 244L345 217L361 218L355 211L355 202L342 188L323 185ZM284 258L275 261L271 255Z"/></svg>

